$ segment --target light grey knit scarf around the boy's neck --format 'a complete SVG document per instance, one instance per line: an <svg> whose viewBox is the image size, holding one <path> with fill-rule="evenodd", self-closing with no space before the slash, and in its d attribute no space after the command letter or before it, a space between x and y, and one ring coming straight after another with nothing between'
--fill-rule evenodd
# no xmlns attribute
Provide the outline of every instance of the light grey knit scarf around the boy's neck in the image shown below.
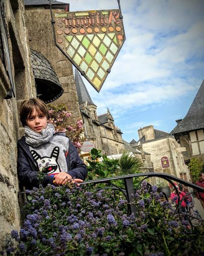
<svg viewBox="0 0 204 256"><path fill-rule="evenodd" d="M47 127L41 133L37 133L28 126L25 126L26 143L32 147L40 146L51 140L55 133L55 127L52 124L47 124Z"/></svg>

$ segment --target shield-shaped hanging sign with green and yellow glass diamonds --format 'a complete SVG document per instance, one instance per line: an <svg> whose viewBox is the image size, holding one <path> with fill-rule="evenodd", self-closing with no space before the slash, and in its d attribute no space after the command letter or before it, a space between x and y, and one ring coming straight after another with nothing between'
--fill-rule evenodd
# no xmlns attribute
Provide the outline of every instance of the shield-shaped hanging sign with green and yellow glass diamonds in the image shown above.
<svg viewBox="0 0 204 256"><path fill-rule="evenodd" d="M125 41L120 9L53 11L55 43L99 92Z"/></svg>

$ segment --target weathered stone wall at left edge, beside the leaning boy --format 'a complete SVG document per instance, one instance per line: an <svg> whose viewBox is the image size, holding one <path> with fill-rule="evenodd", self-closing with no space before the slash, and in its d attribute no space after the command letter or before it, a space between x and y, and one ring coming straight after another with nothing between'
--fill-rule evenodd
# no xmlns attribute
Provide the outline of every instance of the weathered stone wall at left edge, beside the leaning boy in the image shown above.
<svg viewBox="0 0 204 256"><path fill-rule="evenodd" d="M0 248L10 242L11 230L20 228L16 141L23 134L23 127L18 113L24 99L36 96L24 4L21 0L4 0L4 11L10 36L8 45L16 98L4 99L11 84L4 63L0 60Z"/></svg>

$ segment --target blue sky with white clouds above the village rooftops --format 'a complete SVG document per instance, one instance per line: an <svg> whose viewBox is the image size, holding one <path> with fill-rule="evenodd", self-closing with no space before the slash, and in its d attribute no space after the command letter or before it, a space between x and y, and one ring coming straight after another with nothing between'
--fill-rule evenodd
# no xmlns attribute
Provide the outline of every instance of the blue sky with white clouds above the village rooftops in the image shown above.
<svg viewBox="0 0 204 256"><path fill-rule="evenodd" d="M117 0L63 0L70 11L118 8ZM140 127L170 132L204 79L204 0L120 0L126 41L100 91L84 79L98 114L110 109L123 138Z"/></svg>

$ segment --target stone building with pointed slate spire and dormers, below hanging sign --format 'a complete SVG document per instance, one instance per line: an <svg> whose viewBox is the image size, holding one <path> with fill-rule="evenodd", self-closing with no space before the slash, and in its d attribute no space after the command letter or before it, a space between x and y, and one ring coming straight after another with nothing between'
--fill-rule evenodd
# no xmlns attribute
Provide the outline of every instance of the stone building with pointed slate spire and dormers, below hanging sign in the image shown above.
<svg viewBox="0 0 204 256"><path fill-rule="evenodd" d="M109 109L106 114L97 114L97 106L91 100L77 69L75 69L75 82L86 140L92 141L94 147L102 150L103 154L121 154L124 150L122 131L115 126Z"/></svg>

